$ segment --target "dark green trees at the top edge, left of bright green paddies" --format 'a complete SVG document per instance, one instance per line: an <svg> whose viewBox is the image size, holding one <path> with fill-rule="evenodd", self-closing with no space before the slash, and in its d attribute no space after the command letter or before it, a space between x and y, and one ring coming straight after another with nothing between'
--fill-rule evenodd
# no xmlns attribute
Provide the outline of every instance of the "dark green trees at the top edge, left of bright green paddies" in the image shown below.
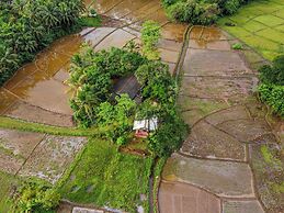
<svg viewBox="0 0 284 213"><path fill-rule="evenodd" d="M192 24L213 24L219 16L237 12L249 0L162 0L168 15Z"/></svg>

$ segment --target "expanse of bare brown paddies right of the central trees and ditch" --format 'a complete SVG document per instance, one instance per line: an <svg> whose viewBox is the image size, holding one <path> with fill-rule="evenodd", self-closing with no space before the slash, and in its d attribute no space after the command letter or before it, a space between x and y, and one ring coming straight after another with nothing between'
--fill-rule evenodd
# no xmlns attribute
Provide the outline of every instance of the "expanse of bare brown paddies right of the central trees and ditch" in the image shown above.
<svg viewBox="0 0 284 213"><path fill-rule="evenodd" d="M162 213L283 210L260 154L263 144L276 147L277 139L252 96L257 74L230 48L234 42L217 27L190 32L179 103L192 132L164 167Z"/></svg>

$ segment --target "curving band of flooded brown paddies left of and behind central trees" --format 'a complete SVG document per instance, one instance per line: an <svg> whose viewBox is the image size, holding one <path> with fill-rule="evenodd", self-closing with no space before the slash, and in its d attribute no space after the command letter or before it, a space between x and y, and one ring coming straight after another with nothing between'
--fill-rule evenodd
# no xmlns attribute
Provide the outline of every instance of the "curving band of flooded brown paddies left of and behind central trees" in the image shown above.
<svg viewBox="0 0 284 213"><path fill-rule="evenodd" d="M149 12L149 4L155 4L159 12ZM88 1L87 5L94 7L99 13L107 11L105 15L111 19L106 20L104 24L106 26L91 30L89 33L87 30L82 33L84 36L66 36L41 52L33 63L16 71L14 77L0 88L1 115L44 124L72 126L72 112L68 103L71 92L65 83L69 76L71 56L79 51L83 41L90 42L95 51L112 46L123 47L129 41L140 44L139 29L145 20L152 19L162 25L159 52L171 72L174 71L186 25L169 23L158 0L121 3ZM145 15L140 16L144 13ZM135 19L128 19L132 15ZM120 21L112 23L112 19Z"/></svg>

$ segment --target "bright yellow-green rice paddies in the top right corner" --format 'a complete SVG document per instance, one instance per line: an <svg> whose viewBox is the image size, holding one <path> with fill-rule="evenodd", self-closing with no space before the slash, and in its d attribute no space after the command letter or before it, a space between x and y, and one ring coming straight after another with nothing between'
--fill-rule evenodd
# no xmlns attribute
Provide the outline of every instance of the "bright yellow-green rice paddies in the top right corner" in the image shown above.
<svg viewBox="0 0 284 213"><path fill-rule="evenodd" d="M284 0L251 1L218 24L265 59L284 53Z"/></svg>

